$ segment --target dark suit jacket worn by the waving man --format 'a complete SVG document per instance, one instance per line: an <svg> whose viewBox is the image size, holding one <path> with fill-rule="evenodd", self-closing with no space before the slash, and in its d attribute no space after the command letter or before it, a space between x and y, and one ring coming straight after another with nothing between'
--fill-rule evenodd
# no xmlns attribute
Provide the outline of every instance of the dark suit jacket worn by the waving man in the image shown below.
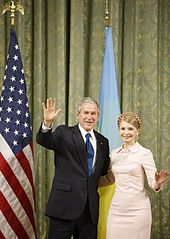
<svg viewBox="0 0 170 239"><path fill-rule="evenodd" d="M86 145L78 125L58 126L55 132L37 133L37 143L54 151L55 175L46 215L62 219L80 216L89 200L93 223L98 222L98 180L107 173L110 164L108 140L94 131L97 141L96 163L88 176Z"/></svg>

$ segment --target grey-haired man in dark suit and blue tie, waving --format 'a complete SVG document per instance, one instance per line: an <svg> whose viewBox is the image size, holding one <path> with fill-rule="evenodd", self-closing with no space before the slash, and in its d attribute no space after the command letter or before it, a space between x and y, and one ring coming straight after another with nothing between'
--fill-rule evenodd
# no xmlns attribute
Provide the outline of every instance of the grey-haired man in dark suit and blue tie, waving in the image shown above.
<svg viewBox="0 0 170 239"><path fill-rule="evenodd" d="M98 103L90 97L83 98L77 111L79 123L61 125L52 132L53 120L60 110L56 110L55 99L47 99L43 104L44 121L37 133L37 143L54 151L55 175L46 209L49 239L96 239L98 181L110 164L108 140L94 130ZM86 142L87 133L90 142Z"/></svg>

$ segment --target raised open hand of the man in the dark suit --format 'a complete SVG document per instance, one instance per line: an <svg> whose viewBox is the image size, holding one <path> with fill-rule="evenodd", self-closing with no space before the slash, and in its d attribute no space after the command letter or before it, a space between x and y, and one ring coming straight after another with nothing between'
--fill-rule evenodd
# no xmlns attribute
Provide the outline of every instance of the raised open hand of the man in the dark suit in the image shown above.
<svg viewBox="0 0 170 239"><path fill-rule="evenodd" d="M51 97L47 99L46 105L42 103L44 113L44 124L50 127L54 119L58 116L61 109L56 110L56 99Z"/></svg>

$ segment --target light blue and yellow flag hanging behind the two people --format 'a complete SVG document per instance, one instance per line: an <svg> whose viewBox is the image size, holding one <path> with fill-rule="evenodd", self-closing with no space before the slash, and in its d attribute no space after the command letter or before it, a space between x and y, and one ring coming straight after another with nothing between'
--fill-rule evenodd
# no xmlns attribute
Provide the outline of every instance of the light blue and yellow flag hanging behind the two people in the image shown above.
<svg viewBox="0 0 170 239"><path fill-rule="evenodd" d="M108 138L110 150L112 150L122 144L117 127L117 118L120 115L120 105L116 80L112 29L106 27L105 33L106 46L100 83L100 117L98 130ZM107 215L114 190L115 185L102 187L98 190L100 195L98 239L106 238Z"/></svg>

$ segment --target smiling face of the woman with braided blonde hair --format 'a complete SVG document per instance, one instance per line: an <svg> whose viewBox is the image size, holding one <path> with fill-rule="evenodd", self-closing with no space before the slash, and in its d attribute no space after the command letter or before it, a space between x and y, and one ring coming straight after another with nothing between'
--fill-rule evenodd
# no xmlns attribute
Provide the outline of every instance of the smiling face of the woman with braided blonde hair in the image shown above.
<svg viewBox="0 0 170 239"><path fill-rule="evenodd" d="M119 126L120 136L126 145L133 145L136 142L136 137L139 134L139 129L126 121L121 121Z"/></svg>

